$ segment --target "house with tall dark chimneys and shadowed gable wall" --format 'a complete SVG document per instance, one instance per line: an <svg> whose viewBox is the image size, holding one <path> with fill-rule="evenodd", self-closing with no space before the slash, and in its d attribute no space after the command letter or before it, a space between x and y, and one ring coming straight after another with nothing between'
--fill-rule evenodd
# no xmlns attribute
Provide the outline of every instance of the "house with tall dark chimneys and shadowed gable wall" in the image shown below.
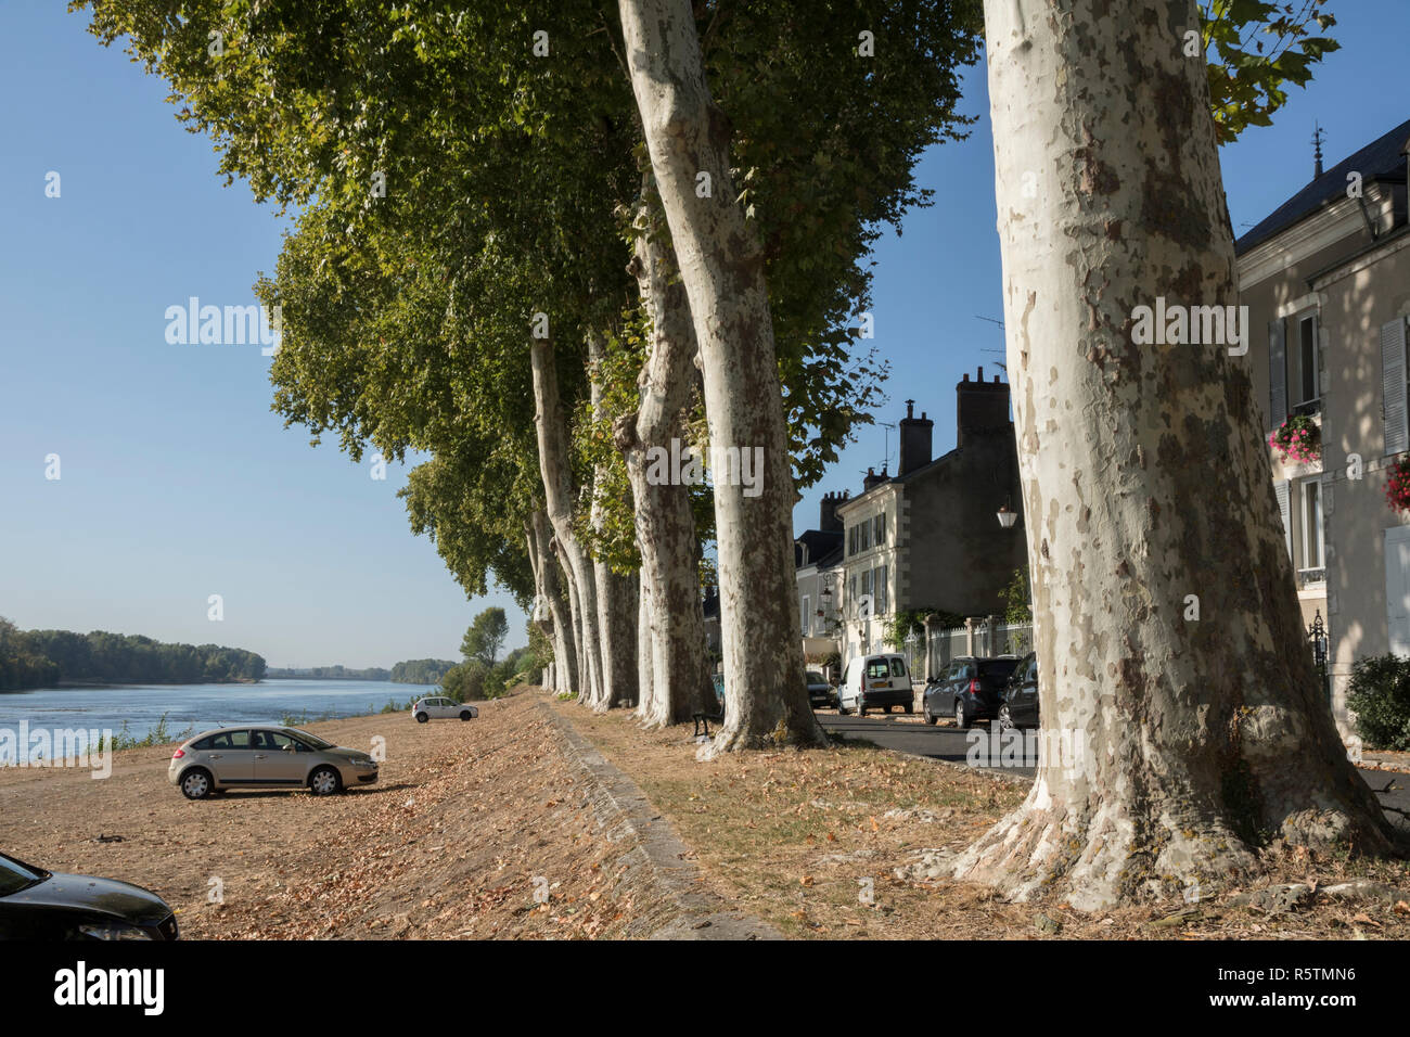
<svg viewBox="0 0 1410 1037"><path fill-rule="evenodd" d="M935 423L925 412L916 418L908 399L895 475L869 471L860 495L836 502L843 665L866 652L904 650L887 641L902 612L1003 612L1003 591L1026 560L1008 385L997 375L986 382L981 367L955 391L953 450L932 457ZM997 518L1005 508L1018 514L1010 526Z"/></svg>

